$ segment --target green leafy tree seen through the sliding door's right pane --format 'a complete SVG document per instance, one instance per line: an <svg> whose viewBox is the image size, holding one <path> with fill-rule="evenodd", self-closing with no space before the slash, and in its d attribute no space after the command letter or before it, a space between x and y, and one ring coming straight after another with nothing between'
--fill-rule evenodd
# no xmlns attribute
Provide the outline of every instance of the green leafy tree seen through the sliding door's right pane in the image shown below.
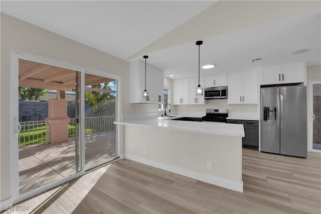
<svg viewBox="0 0 321 214"><path fill-rule="evenodd" d="M114 84L114 82L111 82ZM92 88L112 90L110 83L91 85ZM105 116L108 103L115 101L115 95L105 92L85 91L85 103L91 106L95 116Z"/></svg>

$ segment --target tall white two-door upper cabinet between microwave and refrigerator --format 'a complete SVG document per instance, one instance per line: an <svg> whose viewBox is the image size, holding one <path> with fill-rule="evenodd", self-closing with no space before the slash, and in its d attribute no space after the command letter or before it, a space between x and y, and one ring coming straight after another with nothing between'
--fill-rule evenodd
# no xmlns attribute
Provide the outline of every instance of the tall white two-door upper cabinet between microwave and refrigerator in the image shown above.
<svg viewBox="0 0 321 214"><path fill-rule="evenodd" d="M231 73L228 77L228 104L257 104L257 71Z"/></svg>

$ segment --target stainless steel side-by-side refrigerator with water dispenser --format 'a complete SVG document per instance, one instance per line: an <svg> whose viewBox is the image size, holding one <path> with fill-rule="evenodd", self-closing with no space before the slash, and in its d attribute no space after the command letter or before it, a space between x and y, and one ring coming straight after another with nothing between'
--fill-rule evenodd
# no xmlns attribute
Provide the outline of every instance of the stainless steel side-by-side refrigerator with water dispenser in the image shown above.
<svg viewBox="0 0 321 214"><path fill-rule="evenodd" d="M306 157L306 87L261 88L261 151Z"/></svg>

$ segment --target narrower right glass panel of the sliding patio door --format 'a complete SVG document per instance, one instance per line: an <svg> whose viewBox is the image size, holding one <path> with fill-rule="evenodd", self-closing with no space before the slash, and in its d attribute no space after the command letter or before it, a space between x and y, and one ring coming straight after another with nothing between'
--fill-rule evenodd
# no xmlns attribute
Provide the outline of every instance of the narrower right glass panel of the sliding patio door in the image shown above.
<svg viewBox="0 0 321 214"><path fill-rule="evenodd" d="M85 74L85 168L92 169L117 155L116 80Z"/></svg>

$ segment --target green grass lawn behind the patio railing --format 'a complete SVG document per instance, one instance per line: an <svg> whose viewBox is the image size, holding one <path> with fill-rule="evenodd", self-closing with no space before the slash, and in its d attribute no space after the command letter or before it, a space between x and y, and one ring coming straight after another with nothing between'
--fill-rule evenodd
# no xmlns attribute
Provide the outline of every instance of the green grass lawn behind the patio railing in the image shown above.
<svg viewBox="0 0 321 214"><path fill-rule="evenodd" d="M46 142L46 125L38 124L38 125L30 125L23 126L19 133L20 144L19 146L45 143ZM93 129L86 128L85 134L94 133ZM75 126L68 125L68 138L75 136Z"/></svg>

